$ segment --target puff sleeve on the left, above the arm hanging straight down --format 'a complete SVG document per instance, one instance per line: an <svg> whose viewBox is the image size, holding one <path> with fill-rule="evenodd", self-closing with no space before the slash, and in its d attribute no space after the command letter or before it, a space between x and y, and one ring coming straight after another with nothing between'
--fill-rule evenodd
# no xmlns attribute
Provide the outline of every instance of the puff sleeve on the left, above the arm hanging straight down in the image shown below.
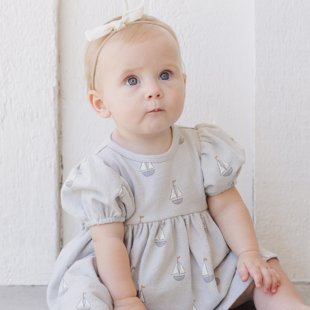
<svg viewBox="0 0 310 310"><path fill-rule="evenodd" d="M98 155L84 158L71 170L61 189L61 204L88 227L124 222L135 210L127 181Z"/></svg>

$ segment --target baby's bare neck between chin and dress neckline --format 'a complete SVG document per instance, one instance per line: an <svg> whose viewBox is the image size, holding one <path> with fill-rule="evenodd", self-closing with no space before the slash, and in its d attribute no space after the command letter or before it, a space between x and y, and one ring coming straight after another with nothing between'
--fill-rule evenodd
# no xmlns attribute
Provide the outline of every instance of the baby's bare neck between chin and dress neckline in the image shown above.
<svg viewBox="0 0 310 310"><path fill-rule="evenodd" d="M126 150L142 155L159 155L166 153L172 143L172 129L155 135L125 136L117 128L111 139Z"/></svg>

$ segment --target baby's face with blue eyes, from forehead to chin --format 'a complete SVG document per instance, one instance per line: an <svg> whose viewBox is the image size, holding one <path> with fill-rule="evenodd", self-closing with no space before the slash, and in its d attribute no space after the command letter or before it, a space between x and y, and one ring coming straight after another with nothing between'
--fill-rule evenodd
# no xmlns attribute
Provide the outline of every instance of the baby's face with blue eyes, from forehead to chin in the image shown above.
<svg viewBox="0 0 310 310"><path fill-rule="evenodd" d="M98 97L123 135L163 132L180 117L185 74L176 42L166 30L155 38L120 45L108 42L96 69ZM108 113L107 113L108 112Z"/></svg>

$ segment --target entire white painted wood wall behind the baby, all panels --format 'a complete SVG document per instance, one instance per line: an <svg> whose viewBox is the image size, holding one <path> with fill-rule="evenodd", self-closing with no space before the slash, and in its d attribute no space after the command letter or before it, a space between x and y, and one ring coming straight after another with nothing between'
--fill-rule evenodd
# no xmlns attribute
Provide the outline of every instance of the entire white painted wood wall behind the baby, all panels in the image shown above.
<svg viewBox="0 0 310 310"><path fill-rule="evenodd" d="M188 80L178 123L216 123L245 148L237 188L251 211L255 194L259 241L292 280L310 281L310 2L60 0L57 21L57 0L3 0L0 285L47 284L58 254L58 149L65 179L114 129L87 103L84 31L140 3L179 36ZM79 223L63 212L61 224L66 244Z"/></svg>

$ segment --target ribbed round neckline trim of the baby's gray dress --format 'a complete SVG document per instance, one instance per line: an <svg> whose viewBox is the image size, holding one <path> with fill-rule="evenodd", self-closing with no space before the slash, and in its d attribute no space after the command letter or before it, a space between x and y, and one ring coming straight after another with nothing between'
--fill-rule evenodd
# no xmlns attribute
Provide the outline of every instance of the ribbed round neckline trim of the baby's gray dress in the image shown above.
<svg viewBox="0 0 310 310"><path fill-rule="evenodd" d="M116 142L111 139L112 133L107 137L107 146L112 148L115 152L120 155L127 157L129 159L138 161L138 162L163 162L170 159L176 151L176 148L179 145L179 128L177 125L173 124L171 126L172 129L172 142L169 150L166 153L158 154L158 155L143 155L131 152L126 148L123 148Z"/></svg>

